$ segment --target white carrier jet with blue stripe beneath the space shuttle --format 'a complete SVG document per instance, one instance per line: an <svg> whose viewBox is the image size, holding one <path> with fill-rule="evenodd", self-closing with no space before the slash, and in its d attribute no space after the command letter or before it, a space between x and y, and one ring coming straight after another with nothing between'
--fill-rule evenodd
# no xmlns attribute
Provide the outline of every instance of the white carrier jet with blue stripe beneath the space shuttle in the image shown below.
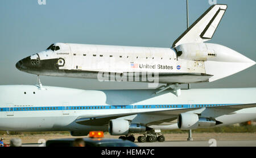
<svg viewBox="0 0 256 158"><path fill-rule="evenodd" d="M161 130L210 128L256 119L256 88L80 90L51 86L0 86L0 130L109 131L121 139L163 142Z"/></svg>

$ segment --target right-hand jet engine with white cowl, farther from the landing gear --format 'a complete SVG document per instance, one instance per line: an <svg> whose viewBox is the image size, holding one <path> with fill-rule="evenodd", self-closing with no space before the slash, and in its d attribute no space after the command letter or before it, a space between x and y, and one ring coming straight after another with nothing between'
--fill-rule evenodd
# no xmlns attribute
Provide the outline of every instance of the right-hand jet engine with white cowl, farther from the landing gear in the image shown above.
<svg viewBox="0 0 256 158"><path fill-rule="evenodd" d="M197 114L181 113L177 118L178 127L181 130L193 130L196 128L213 127L220 122L213 118L199 117Z"/></svg>

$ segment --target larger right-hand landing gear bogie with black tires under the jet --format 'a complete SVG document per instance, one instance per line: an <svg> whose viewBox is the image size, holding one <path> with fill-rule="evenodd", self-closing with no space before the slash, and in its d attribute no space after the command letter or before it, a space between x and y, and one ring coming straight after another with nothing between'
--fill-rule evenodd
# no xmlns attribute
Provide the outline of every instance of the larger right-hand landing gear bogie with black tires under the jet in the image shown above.
<svg viewBox="0 0 256 158"><path fill-rule="evenodd" d="M164 142L165 138L161 132L155 132L155 130L146 131L144 136L138 137L138 142Z"/></svg>

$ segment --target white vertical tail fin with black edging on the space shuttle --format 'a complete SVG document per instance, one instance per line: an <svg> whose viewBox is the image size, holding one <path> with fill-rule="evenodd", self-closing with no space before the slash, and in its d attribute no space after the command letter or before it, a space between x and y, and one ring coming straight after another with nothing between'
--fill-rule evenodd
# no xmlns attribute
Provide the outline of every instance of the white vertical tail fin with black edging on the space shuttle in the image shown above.
<svg viewBox="0 0 256 158"><path fill-rule="evenodd" d="M211 6L196 20L179 38L174 41L172 48L184 43L202 43L212 39L227 5Z"/></svg>

